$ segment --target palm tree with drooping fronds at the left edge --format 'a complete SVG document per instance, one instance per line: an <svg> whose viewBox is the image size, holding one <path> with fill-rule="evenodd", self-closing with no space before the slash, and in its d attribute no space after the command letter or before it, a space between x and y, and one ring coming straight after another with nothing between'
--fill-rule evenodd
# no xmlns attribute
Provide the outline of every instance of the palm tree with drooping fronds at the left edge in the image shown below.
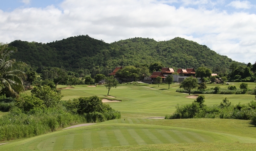
<svg viewBox="0 0 256 151"><path fill-rule="evenodd" d="M13 70L15 59L10 59L10 55L17 52L17 48L0 45L0 84L3 85L6 95L16 96L24 91L23 79L26 79L25 73L20 70Z"/></svg>

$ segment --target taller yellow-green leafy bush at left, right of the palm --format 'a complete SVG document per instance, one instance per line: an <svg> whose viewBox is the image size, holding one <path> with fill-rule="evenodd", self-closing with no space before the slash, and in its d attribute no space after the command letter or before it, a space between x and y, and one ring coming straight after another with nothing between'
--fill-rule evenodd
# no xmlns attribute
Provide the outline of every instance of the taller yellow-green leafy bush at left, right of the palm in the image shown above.
<svg viewBox="0 0 256 151"><path fill-rule="evenodd" d="M61 93L56 89L51 89L49 86L44 85L41 87L35 86L31 90L32 96L35 96L44 101L46 107L55 107L61 102Z"/></svg>

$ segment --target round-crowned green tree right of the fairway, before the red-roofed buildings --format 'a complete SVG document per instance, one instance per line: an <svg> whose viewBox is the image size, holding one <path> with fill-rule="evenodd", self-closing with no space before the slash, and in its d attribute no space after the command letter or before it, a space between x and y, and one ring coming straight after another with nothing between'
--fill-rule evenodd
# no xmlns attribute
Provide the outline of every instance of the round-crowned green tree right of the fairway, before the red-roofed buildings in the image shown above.
<svg viewBox="0 0 256 151"><path fill-rule="evenodd" d="M190 91L192 89L195 89L196 87L198 87L198 80L197 78L193 78L192 76L190 76L189 78L185 78L180 84L180 88L189 91L189 95Z"/></svg>

